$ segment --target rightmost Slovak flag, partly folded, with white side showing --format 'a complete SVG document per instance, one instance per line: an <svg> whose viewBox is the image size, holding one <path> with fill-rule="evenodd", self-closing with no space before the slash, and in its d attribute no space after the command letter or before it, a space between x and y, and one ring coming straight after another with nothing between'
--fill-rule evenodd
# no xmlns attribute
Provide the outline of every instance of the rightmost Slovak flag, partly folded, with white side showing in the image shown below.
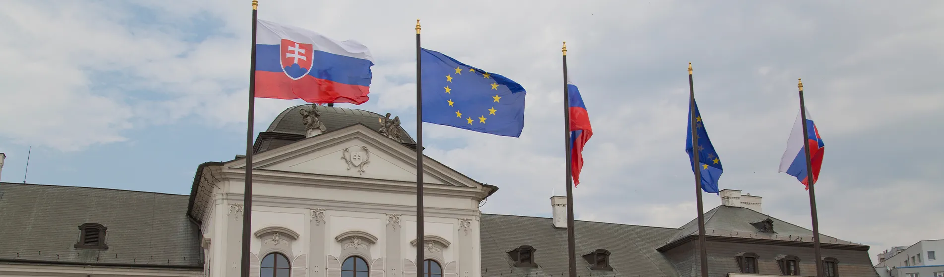
<svg viewBox="0 0 944 277"><path fill-rule="evenodd" d="M806 153L803 151L803 144L810 148L810 167L813 168L813 183L816 183L819 178L819 168L823 165L825 145L809 111L806 111L806 132L804 136L801 114L797 114L797 120L793 123L793 130L790 130L790 138L786 141L784 157L780 160L780 172L796 177L797 180L806 185L806 189L810 189L806 174Z"/></svg>

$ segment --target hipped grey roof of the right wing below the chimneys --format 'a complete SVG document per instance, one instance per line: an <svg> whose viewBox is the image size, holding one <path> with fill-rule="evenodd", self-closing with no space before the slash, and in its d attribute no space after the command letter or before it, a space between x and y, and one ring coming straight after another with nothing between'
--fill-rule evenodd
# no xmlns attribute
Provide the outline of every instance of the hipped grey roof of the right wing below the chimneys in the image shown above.
<svg viewBox="0 0 944 277"><path fill-rule="evenodd" d="M705 235L761 238L783 241L813 241L813 231L807 230L797 225L790 224L784 220L770 217L745 207L733 207L719 205L715 209L705 213ZM760 232L751 222L758 222L769 218L773 221L774 233ZM667 239L659 247L666 246L677 240L683 239L689 235L699 234L698 218L692 219L683 225L681 231ZM820 243L839 244L839 245L858 245L849 241L841 240L833 236L819 234Z"/></svg>

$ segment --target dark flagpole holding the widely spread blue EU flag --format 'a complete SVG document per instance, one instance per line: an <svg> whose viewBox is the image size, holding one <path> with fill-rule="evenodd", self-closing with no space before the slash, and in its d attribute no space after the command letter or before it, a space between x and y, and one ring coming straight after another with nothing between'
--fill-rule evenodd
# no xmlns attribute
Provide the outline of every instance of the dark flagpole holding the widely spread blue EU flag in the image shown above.
<svg viewBox="0 0 944 277"><path fill-rule="evenodd" d="M416 20L416 276L423 276L423 71L420 69L419 19Z"/></svg>

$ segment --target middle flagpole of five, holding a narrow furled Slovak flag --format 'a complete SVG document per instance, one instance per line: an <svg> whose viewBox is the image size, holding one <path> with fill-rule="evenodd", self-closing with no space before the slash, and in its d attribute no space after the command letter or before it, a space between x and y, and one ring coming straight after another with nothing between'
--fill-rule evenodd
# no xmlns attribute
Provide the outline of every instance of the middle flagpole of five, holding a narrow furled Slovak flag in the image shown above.
<svg viewBox="0 0 944 277"><path fill-rule="evenodd" d="M574 241L574 180L571 167L570 140L570 91L567 87L567 43L561 46L564 57L564 153L567 174L567 257L570 265L570 277L577 277L577 252Z"/></svg>

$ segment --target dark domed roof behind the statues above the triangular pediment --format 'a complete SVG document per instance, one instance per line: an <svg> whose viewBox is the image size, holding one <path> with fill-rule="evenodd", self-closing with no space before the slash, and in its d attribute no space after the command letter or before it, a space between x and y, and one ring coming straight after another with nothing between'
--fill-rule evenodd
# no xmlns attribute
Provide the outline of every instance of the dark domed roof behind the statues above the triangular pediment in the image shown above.
<svg viewBox="0 0 944 277"><path fill-rule="evenodd" d="M278 113L276 119L272 120L272 124L269 125L269 129L265 131L300 134L304 136L305 124L302 123L302 116L298 111L302 108L306 110L311 109L311 106L311 104L304 104L285 109L282 113ZM325 124L325 128L328 129L326 131L343 129L357 123L363 123L363 125L369 127L371 130L379 130L379 119L384 116L379 113L363 110L317 105L315 107L318 109L318 112L321 113L321 122ZM390 115L391 118L395 116L394 114ZM415 144L413 137L411 137L406 130L403 130L403 127L400 127L400 130L405 134L404 143Z"/></svg>

